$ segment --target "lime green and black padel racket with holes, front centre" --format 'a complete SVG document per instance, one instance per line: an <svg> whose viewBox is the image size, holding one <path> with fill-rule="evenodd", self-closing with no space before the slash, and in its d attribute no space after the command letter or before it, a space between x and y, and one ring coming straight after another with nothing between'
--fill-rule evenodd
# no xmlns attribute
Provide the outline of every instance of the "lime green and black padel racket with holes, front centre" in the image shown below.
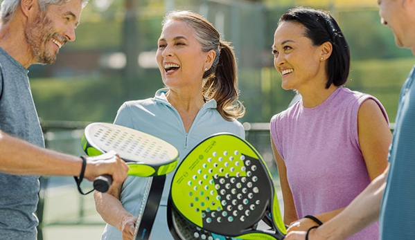
<svg viewBox="0 0 415 240"><path fill-rule="evenodd" d="M170 221L184 239L221 239L214 234L252 240L285 237L267 165L249 142L229 133L206 138L184 158L173 176L169 201ZM272 229L258 230L261 220Z"/></svg>

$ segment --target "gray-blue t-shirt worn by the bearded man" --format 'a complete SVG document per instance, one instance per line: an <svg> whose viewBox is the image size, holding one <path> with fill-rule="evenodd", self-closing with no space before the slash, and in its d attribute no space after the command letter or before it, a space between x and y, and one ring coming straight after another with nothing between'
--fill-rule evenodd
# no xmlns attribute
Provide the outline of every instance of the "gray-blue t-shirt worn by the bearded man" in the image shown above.
<svg viewBox="0 0 415 240"><path fill-rule="evenodd" d="M0 129L44 147L28 70L0 48ZM16 146L16 151L19 147ZM39 176L0 173L0 239L36 239Z"/></svg>

